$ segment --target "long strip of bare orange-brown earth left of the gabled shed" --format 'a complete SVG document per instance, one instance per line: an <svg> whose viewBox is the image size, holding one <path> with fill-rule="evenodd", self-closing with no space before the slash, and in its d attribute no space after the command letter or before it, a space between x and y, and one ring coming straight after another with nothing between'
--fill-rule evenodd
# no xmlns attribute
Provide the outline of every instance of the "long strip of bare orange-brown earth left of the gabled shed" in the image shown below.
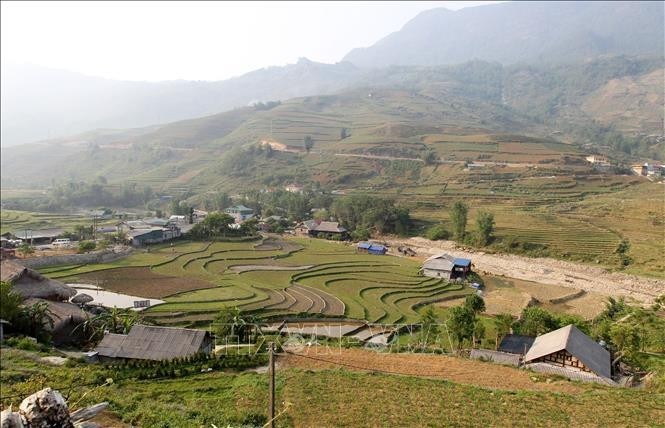
<svg viewBox="0 0 665 428"><path fill-rule="evenodd" d="M280 367L302 369L344 368L353 371L386 371L394 374L445 379L451 382L503 390L576 393L568 381L535 382L525 370L499 364L434 354L391 354L364 349L309 347L278 358Z"/></svg>

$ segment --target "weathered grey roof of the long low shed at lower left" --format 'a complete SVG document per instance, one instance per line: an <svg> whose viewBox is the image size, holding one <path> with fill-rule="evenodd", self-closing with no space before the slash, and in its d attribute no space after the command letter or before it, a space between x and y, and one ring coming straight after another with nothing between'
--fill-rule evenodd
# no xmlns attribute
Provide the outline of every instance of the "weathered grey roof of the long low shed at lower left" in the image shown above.
<svg viewBox="0 0 665 428"><path fill-rule="evenodd" d="M135 325L129 334L108 333L95 352L101 359L173 360L212 352L209 332L189 328Z"/></svg>

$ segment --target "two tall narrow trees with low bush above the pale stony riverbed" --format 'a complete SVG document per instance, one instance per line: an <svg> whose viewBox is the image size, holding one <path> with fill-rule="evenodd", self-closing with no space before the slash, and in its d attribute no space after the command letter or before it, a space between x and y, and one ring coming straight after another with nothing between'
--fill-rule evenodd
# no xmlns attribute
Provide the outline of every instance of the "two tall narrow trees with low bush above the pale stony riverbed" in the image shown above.
<svg viewBox="0 0 665 428"><path fill-rule="evenodd" d="M476 231L474 234L467 232L469 219L469 207L462 201L457 201L450 208L450 225L452 236L462 242L486 246L494 239L494 214L480 210L476 215ZM425 232L425 237L432 240L448 239L451 234L442 223L432 226Z"/></svg>

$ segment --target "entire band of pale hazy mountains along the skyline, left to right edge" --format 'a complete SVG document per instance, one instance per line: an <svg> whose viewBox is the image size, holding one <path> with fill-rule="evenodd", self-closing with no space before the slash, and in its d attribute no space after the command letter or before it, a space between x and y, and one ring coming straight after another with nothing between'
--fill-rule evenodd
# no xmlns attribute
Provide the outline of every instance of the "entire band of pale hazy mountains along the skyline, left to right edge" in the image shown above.
<svg viewBox="0 0 665 428"><path fill-rule="evenodd" d="M662 2L509 2L432 9L373 46L352 50L340 63L302 58L217 82L114 81L4 65L2 146L98 128L164 124L257 101L332 94L367 82L384 84L389 73L375 71L396 65L471 60L553 65L603 55L662 58L663 10Z"/></svg>

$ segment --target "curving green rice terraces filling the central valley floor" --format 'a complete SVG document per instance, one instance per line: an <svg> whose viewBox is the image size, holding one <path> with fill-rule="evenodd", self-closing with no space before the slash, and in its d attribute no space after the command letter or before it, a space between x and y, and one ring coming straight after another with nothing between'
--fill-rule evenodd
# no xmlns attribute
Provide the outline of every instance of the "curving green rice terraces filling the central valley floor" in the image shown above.
<svg viewBox="0 0 665 428"><path fill-rule="evenodd" d="M411 322L417 308L471 291L421 276L417 261L356 253L314 239L184 242L156 246L110 264L43 269L67 283L159 298L145 315L162 325L212 320L227 306L265 319L314 314L376 323Z"/></svg>

